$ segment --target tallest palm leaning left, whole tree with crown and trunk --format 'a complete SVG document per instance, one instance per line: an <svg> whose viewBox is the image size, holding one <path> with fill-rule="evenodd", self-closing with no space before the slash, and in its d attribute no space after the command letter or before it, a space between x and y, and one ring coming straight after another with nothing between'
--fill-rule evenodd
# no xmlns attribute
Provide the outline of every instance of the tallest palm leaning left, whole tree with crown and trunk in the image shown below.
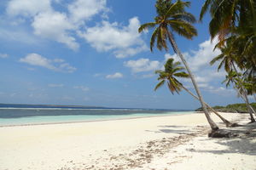
<svg viewBox="0 0 256 170"><path fill-rule="evenodd" d="M189 73L189 77L191 78L196 94L200 99L201 106L205 116L207 117L207 121L212 128L212 132L214 132L218 130L218 126L212 121L212 118L207 111L207 106L202 99L201 92L195 82L195 77L190 71L186 60L183 58L183 54L180 52L179 48L177 48L177 43L173 37L174 32L188 39L192 39L192 37L197 35L195 27L191 25L195 23L195 17L193 14L185 11L185 8L189 7L189 5L189 2L183 2L181 0L177 0L176 3L172 3L172 0L157 0L155 4L157 16L154 18L154 22L143 24L139 27L138 31L141 32L147 30L148 28L155 27L150 41L151 51L154 48L155 40L157 41L157 48L160 50L163 48L167 50L167 41L171 42L174 52L180 57L183 65Z"/></svg>

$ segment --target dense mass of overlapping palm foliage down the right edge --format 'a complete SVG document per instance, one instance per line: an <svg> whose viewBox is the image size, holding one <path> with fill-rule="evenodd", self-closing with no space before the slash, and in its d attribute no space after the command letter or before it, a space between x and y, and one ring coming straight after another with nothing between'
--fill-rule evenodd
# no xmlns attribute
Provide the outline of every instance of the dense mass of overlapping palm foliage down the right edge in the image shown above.
<svg viewBox="0 0 256 170"><path fill-rule="evenodd" d="M252 0L207 0L200 15L201 20L210 11L210 35L212 39L218 37L216 48L221 51L210 64L220 61L218 70L224 66L227 73L224 82L227 87L233 85L245 101L251 122L255 122L253 113L256 115L256 112L249 104L247 95L256 93L255 9L256 2Z"/></svg>

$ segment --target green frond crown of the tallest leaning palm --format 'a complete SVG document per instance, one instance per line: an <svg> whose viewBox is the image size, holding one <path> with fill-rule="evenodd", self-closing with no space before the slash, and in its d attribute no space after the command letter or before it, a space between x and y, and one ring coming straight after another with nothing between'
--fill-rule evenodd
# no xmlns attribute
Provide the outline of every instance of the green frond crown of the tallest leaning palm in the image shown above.
<svg viewBox="0 0 256 170"><path fill-rule="evenodd" d="M143 24L138 29L141 32L148 28L156 27L150 40L151 51L153 51L155 40L157 41L157 48L160 50L165 48L167 50L166 40L170 41L170 36L173 38L171 31L175 31L189 39L197 35L195 27L191 25L195 23L195 17L193 14L185 11L185 7L189 7L189 5L189 2L182 2L180 0L177 0L176 3L172 3L171 0L158 0L156 2L157 16L154 18L154 22ZM172 41L170 42L172 44ZM173 49L177 52L175 48Z"/></svg>

